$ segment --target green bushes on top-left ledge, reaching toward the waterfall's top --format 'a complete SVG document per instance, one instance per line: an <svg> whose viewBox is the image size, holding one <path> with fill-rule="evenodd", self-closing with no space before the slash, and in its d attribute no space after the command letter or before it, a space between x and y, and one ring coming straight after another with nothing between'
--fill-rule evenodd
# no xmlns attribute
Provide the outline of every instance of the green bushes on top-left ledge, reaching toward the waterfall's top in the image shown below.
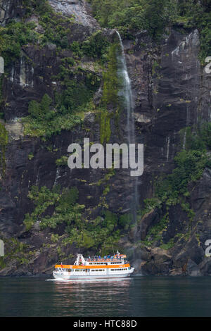
<svg viewBox="0 0 211 331"><path fill-rule="evenodd" d="M46 0L23 0L25 15L20 22L10 21L6 27L0 27L0 54L4 56L6 67L13 61L20 58L20 51L27 44L37 44L45 46L47 43L55 44L57 52L63 49L72 49L74 44L70 44L68 36L71 35L71 26L74 18L67 18L59 13L55 13ZM39 25L43 27L42 32L36 32L37 23L25 23L25 18L37 15ZM101 31L94 32L86 41L79 44L81 54L93 58L103 58L106 53L108 41Z"/></svg>

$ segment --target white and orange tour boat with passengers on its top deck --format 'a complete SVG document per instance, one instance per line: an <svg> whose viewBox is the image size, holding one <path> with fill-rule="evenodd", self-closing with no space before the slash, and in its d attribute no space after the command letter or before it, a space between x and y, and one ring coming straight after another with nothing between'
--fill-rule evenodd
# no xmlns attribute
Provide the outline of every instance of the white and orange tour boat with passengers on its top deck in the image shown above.
<svg viewBox="0 0 211 331"><path fill-rule="evenodd" d="M117 251L115 256L84 258L77 254L73 265L56 265L53 277L62 280L82 280L91 278L129 277L134 272L126 255Z"/></svg>

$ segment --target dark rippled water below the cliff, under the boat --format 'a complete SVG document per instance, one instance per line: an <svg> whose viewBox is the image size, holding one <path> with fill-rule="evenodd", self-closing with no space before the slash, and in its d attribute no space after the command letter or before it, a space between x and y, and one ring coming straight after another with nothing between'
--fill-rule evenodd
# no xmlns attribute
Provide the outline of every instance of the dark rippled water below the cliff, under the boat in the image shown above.
<svg viewBox="0 0 211 331"><path fill-rule="evenodd" d="M0 316L211 316L211 277L0 278Z"/></svg>

